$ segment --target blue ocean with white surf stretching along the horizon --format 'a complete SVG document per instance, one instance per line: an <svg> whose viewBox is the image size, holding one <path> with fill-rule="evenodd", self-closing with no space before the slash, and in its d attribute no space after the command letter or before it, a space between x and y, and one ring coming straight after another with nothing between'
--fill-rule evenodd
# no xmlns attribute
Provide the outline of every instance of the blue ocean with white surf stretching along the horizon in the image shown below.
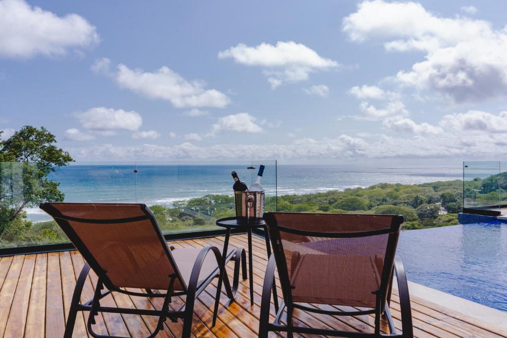
<svg viewBox="0 0 507 338"><path fill-rule="evenodd" d="M289 195L367 187L376 183L420 184L462 178L461 166L266 166L262 179L266 195ZM235 170L249 185L260 163L240 164L73 164L58 168L49 179L60 183L65 202L163 204L207 194L231 195ZM256 169L247 169L255 166ZM38 208L27 209L32 221L49 220Z"/></svg>

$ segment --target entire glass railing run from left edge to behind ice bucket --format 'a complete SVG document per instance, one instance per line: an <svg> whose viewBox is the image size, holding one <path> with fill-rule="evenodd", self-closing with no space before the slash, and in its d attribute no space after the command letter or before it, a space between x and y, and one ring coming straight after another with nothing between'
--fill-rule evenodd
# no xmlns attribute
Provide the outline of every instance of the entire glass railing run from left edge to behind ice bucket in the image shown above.
<svg viewBox="0 0 507 338"><path fill-rule="evenodd" d="M266 166L265 209L274 211L276 161L71 163L57 167L47 182L34 164L1 163L0 246L69 242L39 209L43 201L144 203L165 234L220 229L217 218L235 215L231 171L249 186L260 164Z"/></svg>

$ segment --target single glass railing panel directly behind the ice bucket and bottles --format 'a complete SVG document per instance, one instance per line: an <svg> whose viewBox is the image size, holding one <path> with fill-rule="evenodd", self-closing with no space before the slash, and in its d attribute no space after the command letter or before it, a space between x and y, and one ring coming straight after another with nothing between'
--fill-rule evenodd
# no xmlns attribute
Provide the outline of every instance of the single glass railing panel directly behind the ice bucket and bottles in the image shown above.
<svg viewBox="0 0 507 338"><path fill-rule="evenodd" d="M231 176L249 186L265 165L265 209L276 210L276 162L137 162L136 199L154 212L165 234L217 230L218 218L235 215Z"/></svg>

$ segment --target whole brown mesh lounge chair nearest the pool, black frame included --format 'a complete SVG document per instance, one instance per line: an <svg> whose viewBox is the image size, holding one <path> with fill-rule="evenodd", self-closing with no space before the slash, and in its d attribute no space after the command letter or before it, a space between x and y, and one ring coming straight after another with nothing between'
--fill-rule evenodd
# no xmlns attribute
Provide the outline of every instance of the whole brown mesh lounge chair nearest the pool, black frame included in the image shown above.
<svg viewBox="0 0 507 338"><path fill-rule="evenodd" d="M407 281L401 260L395 259L403 216L267 212L264 219L274 252L264 280L259 336L267 336L268 331L286 331L288 336L293 332L354 335L294 326L294 309L342 316L375 314L373 336L382 336L383 315L389 324L389 336L412 336ZM275 264L283 303L275 321L269 323L269 285L274 279ZM393 270L399 285L403 333L396 332L389 313ZM357 310L322 310L322 304ZM285 310L287 324L281 325Z"/></svg>

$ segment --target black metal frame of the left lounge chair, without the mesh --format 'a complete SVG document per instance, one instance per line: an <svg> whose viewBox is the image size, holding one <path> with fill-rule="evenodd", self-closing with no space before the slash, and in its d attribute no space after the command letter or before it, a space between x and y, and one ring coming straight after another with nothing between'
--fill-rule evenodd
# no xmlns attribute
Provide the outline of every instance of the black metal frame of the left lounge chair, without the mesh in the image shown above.
<svg viewBox="0 0 507 338"><path fill-rule="evenodd" d="M51 206L50 203L42 203L40 208L44 211L48 212L51 216L55 218L55 220L61 225L62 230L65 232L70 241L76 246L79 252L83 255L85 259L85 265L83 266L81 273L76 282L76 287L74 289L74 294L70 303L69 314L67 316L67 322L65 324L65 333L63 335L64 338L71 338L74 332L74 326L76 323L76 317L79 311L88 311L88 321L87 321L87 329L90 335L95 338L126 338L119 336L111 336L111 335L101 335L97 334L93 330L93 325L96 324L95 317L100 312L104 313L118 313L118 314L133 314L133 315L146 315L146 316L158 316L157 327L154 331L147 337L153 338L155 337L160 330L164 329L164 323L167 318L169 318L172 322L176 322L177 319L183 320L183 330L182 337L190 337L192 330L192 317L194 312L194 303L197 296L206 288L206 286L214 279L219 278L220 276L220 266L222 262L222 253L215 246L207 246L201 249L199 252L194 266L192 268L192 272L190 275L190 280L188 285L183 282L180 277L179 270L177 269L177 265L172 260L172 255L169 254L169 250L174 249L173 247L168 247L160 228L158 227L155 216L151 212L151 210L146 205L141 205L142 210L146 213L146 217L131 217L131 218L123 218L123 219L79 219L75 217L69 217L61 214L56 208ZM171 264L173 266L175 274L168 276L168 286L165 293L154 292L151 289L144 289L145 292L133 292L128 291L123 288L115 286L110 279L107 277L106 272L103 271L98 262L95 260L91 252L86 248L84 243L80 240L77 234L71 230L70 225L68 224L68 220L81 221L87 223L126 223L132 222L134 220L141 219L150 219L154 229L159 235L161 244L167 250L167 256L169 260L171 260ZM63 224L62 224L63 223ZM66 224L65 224L66 223ZM210 273L207 278L199 282L199 275L204 263L204 259L209 252L212 252L215 256L217 268ZM242 270L242 279L247 279L246 272L246 253L243 248L237 248L235 251L231 251L229 255L226 257L226 261L234 260L234 279L233 285L229 282L229 278L227 276L227 271L224 271L224 286L226 289L227 296L231 300L234 301L235 295L237 293L238 284L239 284L239 268L241 265ZM95 291L93 298L85 303L80 303L81 293L83 291L83 287L88 278L88 273L92 269L98 276L97 284L95 285ZM184 287L182 291L174 291L173 284L176 279L180 280L180 285ZM102 292L102 290L106 289ZM163 306L160 310L147 310L147 309L135 309L135 308L113 308L113 307L104 307L100 305L100 300L107 296L112 292L119 292L131 296L139 296L139 297L156 297L163 298ZM178 310L169 310L169 303L171 303L172 297L183 296L186 295L185 304Z"/></svg>

